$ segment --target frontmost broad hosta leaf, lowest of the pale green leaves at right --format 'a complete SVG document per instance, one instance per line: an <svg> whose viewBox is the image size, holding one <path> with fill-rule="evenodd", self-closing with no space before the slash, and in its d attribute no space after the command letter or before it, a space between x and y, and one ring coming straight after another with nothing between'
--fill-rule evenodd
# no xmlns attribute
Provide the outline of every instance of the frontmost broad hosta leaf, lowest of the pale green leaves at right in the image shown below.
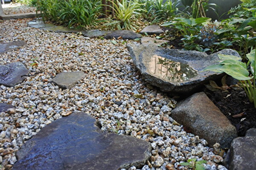
<svg viewBox="0 0 256 170"><path fill-rule="evenodd" d="M238 80L252 79L252 77L249 77L249 71L237 65L223 65L221 70Z"/></svg>

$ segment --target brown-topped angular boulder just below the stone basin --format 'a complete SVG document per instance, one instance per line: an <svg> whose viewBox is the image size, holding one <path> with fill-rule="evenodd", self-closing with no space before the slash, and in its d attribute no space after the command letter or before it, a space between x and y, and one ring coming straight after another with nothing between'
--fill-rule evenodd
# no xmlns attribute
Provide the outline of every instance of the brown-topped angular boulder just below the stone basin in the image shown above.
<svg viewBox="0 0 256 170"><path fill-rule="evenodd" d="M222 148L230 147L232 140L237 137L236 127L204 92L178 102L171 116L192 133L205 139L211 147L215 143L221 144Z"/></svg>

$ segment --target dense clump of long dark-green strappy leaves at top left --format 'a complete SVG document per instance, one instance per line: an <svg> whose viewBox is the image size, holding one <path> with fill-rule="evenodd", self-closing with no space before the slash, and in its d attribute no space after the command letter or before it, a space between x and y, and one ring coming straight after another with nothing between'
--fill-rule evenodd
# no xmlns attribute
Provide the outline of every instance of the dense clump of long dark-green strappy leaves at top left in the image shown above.
<svg viewBox="0 0 256 170"><path fill-rule="evenodd" d="M68 27L95 25L102 8L100 0L38 0L36 6L44 20Z"/></svg>

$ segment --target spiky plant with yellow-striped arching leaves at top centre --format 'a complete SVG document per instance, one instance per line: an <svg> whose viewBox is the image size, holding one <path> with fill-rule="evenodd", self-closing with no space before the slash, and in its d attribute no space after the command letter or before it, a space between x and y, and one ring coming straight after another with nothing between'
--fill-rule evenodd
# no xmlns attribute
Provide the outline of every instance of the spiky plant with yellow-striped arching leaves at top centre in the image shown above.
<svg viewBox="0 0 256 170"><path fill-rule="evenodd" d="M112 3L111 0L108 0ZM110 20L110 23L106 23L105 26L111 26L119 30L137 30L136 24L131 22L131 18L137 15L141 15L141 11L145 9L141 8L139 0L122 0L122 2L116 1L113 6L109 6L115 13L116 20Z"/></svg>

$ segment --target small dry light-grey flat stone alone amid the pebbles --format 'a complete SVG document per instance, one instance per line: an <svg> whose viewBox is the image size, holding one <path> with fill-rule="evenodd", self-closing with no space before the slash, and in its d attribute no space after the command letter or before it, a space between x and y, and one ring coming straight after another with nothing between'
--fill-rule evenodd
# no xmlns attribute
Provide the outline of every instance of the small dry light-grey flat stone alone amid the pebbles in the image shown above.
<svg viewBox="0 0 256 170"><path fill-rule="evenodd" d="M51 79L50 82L53 82L54 85L58 85L62 89L70 89L84 76L85 74L83 71L62 72L57 74L57 76L54 79Z"/></svg>

